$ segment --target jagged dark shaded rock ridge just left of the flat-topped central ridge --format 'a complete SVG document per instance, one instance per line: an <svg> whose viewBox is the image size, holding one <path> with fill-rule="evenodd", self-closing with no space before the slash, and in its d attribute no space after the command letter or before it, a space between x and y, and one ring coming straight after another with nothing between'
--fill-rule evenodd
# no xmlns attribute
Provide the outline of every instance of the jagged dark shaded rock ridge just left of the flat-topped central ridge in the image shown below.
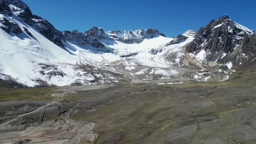
<svg viewBox="0 0 256 144"><path fill-rule="evenodd" d="M104 33L103 29L93 27L84 33L78 32L74 30L70 31L63 31L62 37L68 41L77 42L79 45L90 45L93 47L101 48L104 47L104 44L100 43L100 39L106 39L106 34Z"/></svg>

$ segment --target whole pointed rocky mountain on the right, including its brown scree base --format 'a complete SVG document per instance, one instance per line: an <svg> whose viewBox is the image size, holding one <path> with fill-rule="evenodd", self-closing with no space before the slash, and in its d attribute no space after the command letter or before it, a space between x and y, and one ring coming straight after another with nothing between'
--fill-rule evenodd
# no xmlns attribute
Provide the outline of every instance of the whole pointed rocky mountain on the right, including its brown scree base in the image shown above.
<svg viewBox="0 0 256 144"><path fill-rule="evenodd" d="M187 51L207 61L241 64L255 55L255 45L251 45L255 41L254 37L252 29L224 15L200 28Z"/></svg>

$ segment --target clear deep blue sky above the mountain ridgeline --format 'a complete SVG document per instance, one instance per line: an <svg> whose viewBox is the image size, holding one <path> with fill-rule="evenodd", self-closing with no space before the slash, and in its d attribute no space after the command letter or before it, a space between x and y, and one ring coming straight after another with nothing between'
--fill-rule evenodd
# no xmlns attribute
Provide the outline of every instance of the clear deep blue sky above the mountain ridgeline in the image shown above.
<svg viewBox="0 0 256 144"><path fill-rule="evenodd" d="M60 31L93 26L104 31L156 28L172 37L187 29L197 31L211 20L230 19L256 30L255 0L22 0L32 13Z"/></svg>

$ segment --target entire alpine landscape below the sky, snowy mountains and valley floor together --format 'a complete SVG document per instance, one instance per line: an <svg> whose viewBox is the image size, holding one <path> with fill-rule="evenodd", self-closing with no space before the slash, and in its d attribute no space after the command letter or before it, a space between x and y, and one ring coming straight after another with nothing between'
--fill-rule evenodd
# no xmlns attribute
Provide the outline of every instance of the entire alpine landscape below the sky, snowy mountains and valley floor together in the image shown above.
<svg viewBox="0 0 256 144"><path fill-rule="evenodd" d="M0 0L1 144L255 144L255 89L256 33L228 15L61 32Z"/></svg>

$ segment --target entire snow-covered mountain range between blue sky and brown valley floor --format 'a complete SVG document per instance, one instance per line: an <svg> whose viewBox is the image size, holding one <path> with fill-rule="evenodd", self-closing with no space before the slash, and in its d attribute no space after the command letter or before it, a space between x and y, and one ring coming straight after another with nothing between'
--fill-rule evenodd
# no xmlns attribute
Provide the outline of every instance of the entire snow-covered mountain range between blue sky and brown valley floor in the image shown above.
<svg viewBox="0 0 256 144"><path fill-rule="evenodd" d="M253 62L254 31L228 16L174 38L157 29L58 31L20 0L0 0L0 80L24 86L226 80Z"/></svg>

